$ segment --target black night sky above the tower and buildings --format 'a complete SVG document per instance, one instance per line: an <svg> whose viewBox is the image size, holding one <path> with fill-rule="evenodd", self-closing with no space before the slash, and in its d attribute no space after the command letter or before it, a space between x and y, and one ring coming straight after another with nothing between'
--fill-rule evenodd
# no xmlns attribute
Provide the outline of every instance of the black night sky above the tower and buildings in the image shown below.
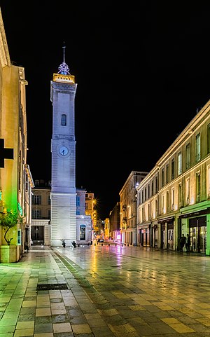
<svg viewBox="0 0 210 337"><path fill-rule="evenodd" d="M105 219L130 172L149 172L209 100L210 2L53 2L0 2L10 59L29 83L27 162L34 180L51 179L50 81L65 41L78 83L76 186Z"/></svg>

